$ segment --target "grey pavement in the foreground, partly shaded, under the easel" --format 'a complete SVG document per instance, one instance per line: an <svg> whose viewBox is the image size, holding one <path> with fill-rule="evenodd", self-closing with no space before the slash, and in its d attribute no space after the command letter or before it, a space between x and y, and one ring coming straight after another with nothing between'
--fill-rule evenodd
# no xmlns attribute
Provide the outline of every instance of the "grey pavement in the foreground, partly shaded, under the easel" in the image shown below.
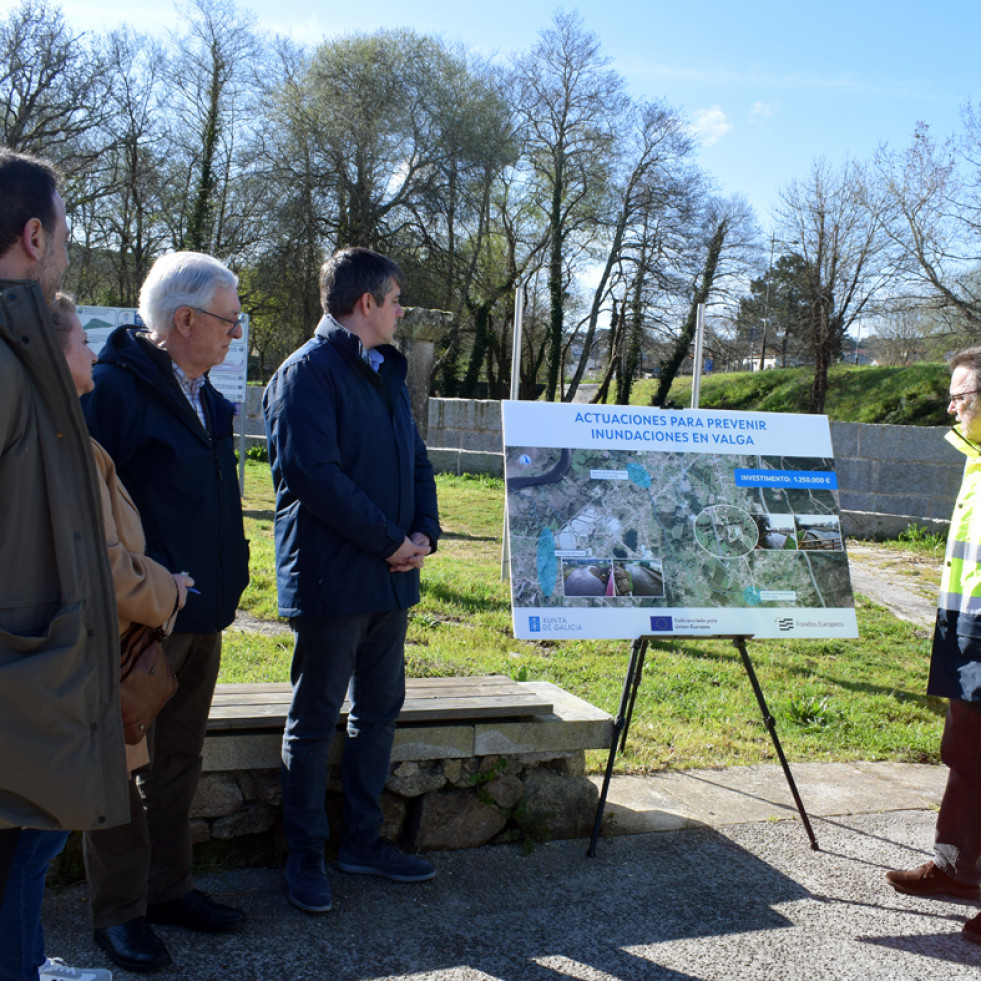
<svg viewBox="0 0 981 981"><path fill-rule="evenodd" d="M659 981L976 979L959 935L981 904L915 899L887 869L929 857L942 768L793 767L820 851L777 766L617 777L613 828L585 841L434 854L402 885L331 870L335 908L286 900L281 869L202 876L248 928L211 937L161 927L181 981ZM660 830L652 830L658 828ZM623 833L628 830L639 833ZM46 899L48 952L107 966L84 886ZM114 972L117 981L139 977Z"/></svg>

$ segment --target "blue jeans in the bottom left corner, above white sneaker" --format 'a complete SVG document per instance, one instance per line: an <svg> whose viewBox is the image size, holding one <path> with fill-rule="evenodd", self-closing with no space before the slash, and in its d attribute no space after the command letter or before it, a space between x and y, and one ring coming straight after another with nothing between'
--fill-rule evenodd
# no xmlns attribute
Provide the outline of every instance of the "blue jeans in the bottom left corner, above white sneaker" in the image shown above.
<svg viewBox="0 0 981 981"><path fill-rule="evenodd" d="M37 981L44 963L44 877L67 840L67 831L21 829L0 907L0 981Z"/></svg>

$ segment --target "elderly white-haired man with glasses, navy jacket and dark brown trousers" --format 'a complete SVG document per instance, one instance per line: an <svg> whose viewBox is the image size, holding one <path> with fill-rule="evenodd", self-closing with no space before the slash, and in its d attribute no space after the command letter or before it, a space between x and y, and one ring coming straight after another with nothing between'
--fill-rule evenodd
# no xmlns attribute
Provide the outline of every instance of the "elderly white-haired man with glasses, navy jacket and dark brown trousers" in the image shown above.
<svg viewBox="0 0 981 981"><path fill-rule="evenodd" d="M92 435L115 461L143 519L148 555L194 580L197 593L165 641L177 694L148 733L151 763L131 785L128 825L85 838L95 940L121 967L170 963L149 924L224 932L241 910L191 878L189 811L201 773L221 631L248 582L232 440L233 406L208 380L241 336L238 279L217 259L158 259L140 291L146 329L120 327L82 400Z"/></svg>

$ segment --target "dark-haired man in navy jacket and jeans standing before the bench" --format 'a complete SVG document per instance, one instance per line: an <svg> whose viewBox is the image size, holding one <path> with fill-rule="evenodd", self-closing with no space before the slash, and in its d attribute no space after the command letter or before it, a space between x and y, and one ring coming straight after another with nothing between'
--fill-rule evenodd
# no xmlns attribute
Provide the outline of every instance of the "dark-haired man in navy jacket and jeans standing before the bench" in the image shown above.
<svg viewBox="0 0 981 981"><path fill-rule="evenodd" d="M331 908L324 874L327 753L350 689L342 778L342 871L400 882L435 869L379 837L395 720L405 697L408 608L436 548L436 484L392 346L402 272L344 249L320 273L324 316L280 366L263 409L276 488L280 614L294 631L283 735L290 901Z"/></svg>

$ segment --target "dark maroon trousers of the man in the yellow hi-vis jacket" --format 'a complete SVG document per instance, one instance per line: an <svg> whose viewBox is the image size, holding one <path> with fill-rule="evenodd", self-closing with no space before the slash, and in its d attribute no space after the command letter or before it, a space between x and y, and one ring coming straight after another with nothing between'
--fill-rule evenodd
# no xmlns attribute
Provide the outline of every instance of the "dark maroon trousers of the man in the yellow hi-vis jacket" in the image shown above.
<svg viewBox="0 0 981 981"><path fill-rule="evenodd" d="M981 883L981 703L952 698L940 743L950 768L937 815L934 863L961 882Z"/></svg>

